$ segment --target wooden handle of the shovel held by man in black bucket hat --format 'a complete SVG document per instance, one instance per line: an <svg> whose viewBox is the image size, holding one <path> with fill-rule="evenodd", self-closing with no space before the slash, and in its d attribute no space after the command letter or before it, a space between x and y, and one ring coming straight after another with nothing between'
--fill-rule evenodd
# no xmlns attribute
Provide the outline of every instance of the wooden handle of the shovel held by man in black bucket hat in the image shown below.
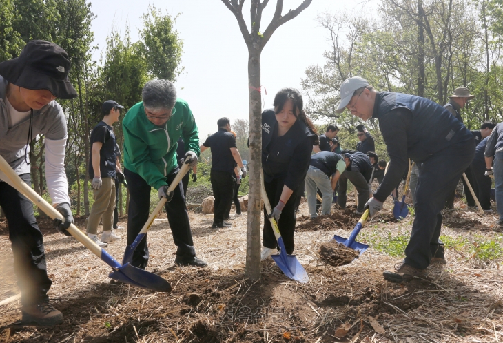
<svg viewBox="0 0 503 343"><path fill-rule="evenodd" d="M3 174L5 174L8 178L7 181L14 189L19 191L19 193L23 194L26 198L30 199L39 209L45 212L50 218L55 219L59 218L61 220L65 220L63 216L57 211L57 209L54 209L47 201L45 201L37 192L35 192L32 187L28 186L26 183L24 183L19 176L12 170L10 165L6 162L6 160L3 159L2 156L0 156L0 170L3 171ZM67 229L68 232L76 240L81 242L86 248L88 248L94 255L98 256L101 258L103 261L105 261L110 267L113 269L119 269L121 267L121 264L117 262L112 256L110 256L109 253L105 251L105 249L101 249L96 243L94 243L87 235L85 235L81 230L79 230L75 225L70 224L70 227Z"/></svg>

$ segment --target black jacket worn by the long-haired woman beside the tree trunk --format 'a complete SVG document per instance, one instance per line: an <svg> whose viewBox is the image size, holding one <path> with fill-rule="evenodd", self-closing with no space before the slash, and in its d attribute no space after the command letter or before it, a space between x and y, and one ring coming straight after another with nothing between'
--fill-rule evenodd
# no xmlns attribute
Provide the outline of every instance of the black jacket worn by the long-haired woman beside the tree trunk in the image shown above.
<svg viewBox="0 0 503 343"><path fill-rule="evenodd" d="M278 122L273 109L262 112L262 168L264 180L283 180L295 190L304 182L313 144L318 136L297 120L288 132L278 137Z"/></svg>

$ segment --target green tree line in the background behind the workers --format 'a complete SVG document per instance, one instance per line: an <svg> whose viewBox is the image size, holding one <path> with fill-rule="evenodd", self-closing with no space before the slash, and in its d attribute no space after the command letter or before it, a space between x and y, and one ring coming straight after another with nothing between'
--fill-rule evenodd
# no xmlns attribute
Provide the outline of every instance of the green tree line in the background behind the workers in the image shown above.
<svg viewBox="0 0 503 343"><path fill-rule="evenodd" d="M324 54L325 65L308 66L301 81L307 114L322 123L320 133L328 123L336 123L342 147L353 149L358 118L346 112L336 114L338 91L348 77L362 76L377 90L424 96L441 105L456 87L469 87L475 98L462 111L466 127L478 129L486 120L500 122L502 8L503 0L382 0L371 15L320 14L316 21L327 30L330 47ZM32 39L54 41L70 56L70 81L79 96L59 103L68 118L65 167L77 216L88 214L92 204L87 173L90 132L101 120L103 101L114 99L124 105L124 115L141 101L145 82L154 78L176 81L183 70L183 41L174 30L176 16L150 7L143 14L136 42L131 41L129 28L123 36L112 28L99 61L92 59L97 49L92 45L93 19L91 4L85 0L0 1L0 61L19 56ZM386 158L377 123L370 120L366 125L376 138L376 152ZM248 127L245 119L232 123L238 149L247 160ZM114 129L122 147L122 127ZM47 196L43 140L32 142L31 173L34 189ZM202 154L205 160L209 156L210 152ZM200 163L199 169L196 186L207 189L209 167ZM194 187L192 181L189 187ZM247 188L245 180L240 193L245 194ZM127 210L127 191L122 185L118 201L122 215Z"/></svg>

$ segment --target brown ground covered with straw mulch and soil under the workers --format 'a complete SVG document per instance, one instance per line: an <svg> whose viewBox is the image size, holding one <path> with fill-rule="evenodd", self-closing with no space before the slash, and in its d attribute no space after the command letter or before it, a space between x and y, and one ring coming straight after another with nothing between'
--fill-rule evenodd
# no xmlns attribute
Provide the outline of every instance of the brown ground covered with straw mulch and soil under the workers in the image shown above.
<svg viewBox="0 0 503 343"><path fill-rule="evenodd" d="M385 206L358 241L376 245L389 241L389 234L410 234L411 218L395 221L391 202ZM305 204L300 210L300 218L309 216ZM19 301L11 302L0 306L0 342L503 342L503 258L478 260L448 247L449 264L429 267L427 280L393 284L382 271L401 258L372 244L349 264L326 263L320 248L334 234L349 236L358 221L346 211L337 216L298 221L295 253L309 274L307 284L286 278L271 259L262 262L260 280L245 277L246 214L220 230L211 229L212 216L191 214L196 253L209 267L174 267L176 247L165 215L159 216L149 232L147 270L168 280L172 293L110 284L110 267L42 222L49 294L65 322L20 328L12 325L21 318ZM460 218L462 229L453 224ZM457 205L445 214L443 232L453 239L495 240L502 236L491 231L495 220ZM83 229L83 222L77 224ZM0 220L0 230L5 225ZM121 259L125 230L117 234L123 240L106 249ZM0 273L1 301L19 293L5 229Z"/></svg>

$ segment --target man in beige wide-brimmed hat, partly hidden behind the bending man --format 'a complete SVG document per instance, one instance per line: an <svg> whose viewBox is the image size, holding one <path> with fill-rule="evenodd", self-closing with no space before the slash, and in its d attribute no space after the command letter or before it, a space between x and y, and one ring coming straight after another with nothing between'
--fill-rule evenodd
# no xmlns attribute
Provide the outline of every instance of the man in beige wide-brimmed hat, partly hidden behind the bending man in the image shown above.
<svg viewBox="0 0 503 343"><path fill-rule="evenodd" d="M449 96L449 103L446 103L444 105L444 108L451 112L453 116L455 116L458 121L463 123L463 118L461 118L461 110L468 103L469 100L475 98L474 95L470 94L470 91L466 87L458 87L454 90L454 94ZM475 178L473 178L471 174L471 169L468 168L464 171L464 174L466 174L466 178L468 178L470 185L475 184ZM469 207L475 207L475 200L473 199L473 196L471 196L471 193L468 191L468 185L466 185L466 181L464 178L461 178L464 186L464 194L466 196L466 203L468 204ZM455 191L452 192L452 194L449 194L447 199L445 200L445 205L444 207L446 209L453 209L454 208L454 197L455 197Z"/></svg>

